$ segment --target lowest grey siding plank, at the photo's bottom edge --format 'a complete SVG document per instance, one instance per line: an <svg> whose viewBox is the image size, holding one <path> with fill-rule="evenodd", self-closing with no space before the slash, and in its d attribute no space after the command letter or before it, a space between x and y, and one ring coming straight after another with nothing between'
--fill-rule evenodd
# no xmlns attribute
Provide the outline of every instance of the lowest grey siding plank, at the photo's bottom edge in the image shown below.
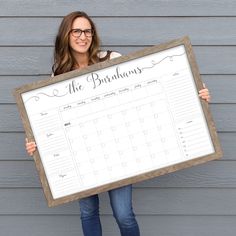
<svg viewBox="0 0 236 236"><path fill-rule="evenodd" d="M119 235L114 220L109 215L101 217L104 235ZM14 225L11 222L15 222ZM50 235L50 236L82 236L80 218L74 215L55 216L0 216L0 227L7 236L12 235ZM234 216L139 216L141 235L162 236L235 236ZM29 227L30 225L30 227ZM168 225L168 227L166 227ZM177 233L176 233L177 231ZM50 234L48 233L50 232ZM195 233L197 232L197 234Z"/></svg>

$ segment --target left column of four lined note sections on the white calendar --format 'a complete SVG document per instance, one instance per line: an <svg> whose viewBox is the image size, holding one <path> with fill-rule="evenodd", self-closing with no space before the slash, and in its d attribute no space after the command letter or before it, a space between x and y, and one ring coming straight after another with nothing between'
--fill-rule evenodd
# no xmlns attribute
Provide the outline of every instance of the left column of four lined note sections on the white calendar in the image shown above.
<svg viewBox="0 0 236 236"><path fill-rule="evenodd" d="M57 109L31 116L31 126L54 198L77 190L80 183L68 150L67 140Z"/></svg>

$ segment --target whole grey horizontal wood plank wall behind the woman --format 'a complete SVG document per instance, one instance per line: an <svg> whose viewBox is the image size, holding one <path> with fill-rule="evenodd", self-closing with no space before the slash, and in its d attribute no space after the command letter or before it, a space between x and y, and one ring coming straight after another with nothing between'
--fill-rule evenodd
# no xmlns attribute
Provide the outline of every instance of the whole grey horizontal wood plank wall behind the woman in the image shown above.
<svg viewBox="0 0 236 236"><path fill-rule="evenodd" d="M236 232L236 1L0 0L0 236L82 235L78 202L50 209L12 90L49 76L62 17L86 11L103 46L122 54L189 35L224 157L134 185L143 236L234 236ZM106 193L104 236L118 236Z"/></svg>

